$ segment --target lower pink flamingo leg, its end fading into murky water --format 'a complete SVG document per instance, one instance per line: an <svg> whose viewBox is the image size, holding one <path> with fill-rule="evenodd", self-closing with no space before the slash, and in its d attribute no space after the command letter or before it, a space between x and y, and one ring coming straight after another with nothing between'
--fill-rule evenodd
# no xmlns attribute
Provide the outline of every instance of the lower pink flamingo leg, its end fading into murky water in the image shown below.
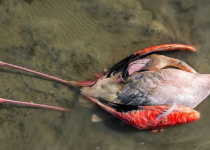
<svg viewBox="0 0 210 150"><path fill-rule="evenodd" d="M22 106L47 108L47 109L58 110L58 111L69 111L69 109L67 109L67 108L42 105L42 104L36 104L36 103L29 103L29 102L20 102L20 101L14 101L14 100L9 100L9 99L4 99L4 98L0 98L0 103L18 104L18 105L22 105Z"/></svg>

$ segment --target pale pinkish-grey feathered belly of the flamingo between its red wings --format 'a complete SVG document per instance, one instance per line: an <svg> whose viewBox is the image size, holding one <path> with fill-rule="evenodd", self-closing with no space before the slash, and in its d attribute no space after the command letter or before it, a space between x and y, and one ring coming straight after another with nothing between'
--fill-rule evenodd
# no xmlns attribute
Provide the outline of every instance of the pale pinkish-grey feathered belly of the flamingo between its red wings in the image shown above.
<svg viewBox="0 0 210 150"><path fill-rule="evenodd" d="M195 108L210 93L210 75L173 68L134 73L126 82L118 100L128 105Z"/></svg>

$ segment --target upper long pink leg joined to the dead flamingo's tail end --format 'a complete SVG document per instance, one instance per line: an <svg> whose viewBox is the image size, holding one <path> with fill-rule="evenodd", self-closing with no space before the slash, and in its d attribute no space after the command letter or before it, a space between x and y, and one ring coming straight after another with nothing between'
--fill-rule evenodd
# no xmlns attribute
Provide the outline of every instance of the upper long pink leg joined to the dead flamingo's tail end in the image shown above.
<svg viewBox="0 0 210 150"><path fill-rule="evenodd" d="M97 80L93 80L93 81L66 81L66 80L63 80L63 79L60 79L60 78L57 78L57 77L53 77L53 76L50 76L50 75L47 75L47 74L44 74L44 73L40 73L40 72L37 72L37 71L34 71L34 70L23 68L23 67L20 67L20 66L8 64L8 63L2 62L2 61L0 61L0 66L7 66L7 67L23 70L23 71L26 71L26 72L29 72L29 73L32 73L32 74L36 74L36 75L39 75L39 76L42 76L42 77L45 77L45 78L48 78L48 79L52 79L52 80L55 80L55 81L58 81L58 82L61 82L61 83L64 83L64 84L67 84L67 85L70 85L70 86L75 86L75 87L91 86L97 81Z"/></svg>

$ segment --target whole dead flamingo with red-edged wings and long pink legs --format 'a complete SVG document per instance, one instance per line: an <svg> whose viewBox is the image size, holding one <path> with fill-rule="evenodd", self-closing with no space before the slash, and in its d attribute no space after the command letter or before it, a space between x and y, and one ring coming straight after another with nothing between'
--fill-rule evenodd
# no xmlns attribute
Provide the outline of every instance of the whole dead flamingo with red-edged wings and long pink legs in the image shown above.
<svg viewBox="0 0 210 150"><path fill-rule="evenodd" d="M205 79L207 78L207 75L197 74L193 68L180 60L161 55L148 55L152 52L169 50L195 51L195 48L182 44L165 44L146 48L117 63L105 76L97 74L100 78L93 81L66 81L4 62L0 62L0 65L27 71L67 85L84 87L82 88L82 93L87 98L92 100L94 103L97 103L100 107L115 115L119 119L140 129L156 129L177 124L184 124L199 119L200 114L186 106L196 106L209 94L209 91L206 91L205 94L203 94L205 96L201 97L198 102L195 99L197 102L196 104L194 104L195 101L191 102L187 100L187 102L185 102L184 99L179 100L179 97L175 100L172 99L174 96L173 93L180 94L180 97L184 96L186 93L190 96L190 90L193 90L193 85L191 85L189 90L181 93L178 93L179 91L177 89L172 89L170 91L172 93L162 91L162 98L167 97L167 99L161 99L161 97L159 97L159 99L155 100L156 95L152 95L151 93L155 93L153 90L158 89L159 86L161 88L164 87L165 76L170 79L174 79L174 76L176 77L180 72L183 75L183 78L175 79L176 82L166 80L165 85L170 85L168 88L177 86L175 83L180 83L185 78L189 80L194 78L199 78L200 80L204 79L204 77ZM178 67L184 71L178 69L162 69L167 66ZM153 71L138 72L140 70ZM161 77L161 75L163 76ZM190 78L188 78L188 76L190 76ZM149 78L150 80L146 80L146 78ZM147 88L141 86L141 80L143 80L142 82L144 82L144 85ZM154 85L151 84L151 82L156 82L156 80L158 82L154 88ZM188 85L185 85L185 87L187 88ZM181 87L182 85L180 84L179 86ZM130 88L130 91L127 90L128 88ZM141 88L143 88L144 91L141 91ZM205 88L205 86L203 88ZM198 88L196 90L198 93L201 91L201 89ZM161 89L158 92L161 92ZM132 93L134 94L134 97L136 96L135 98L129 96L132 95ZM194 95L191 94L192 99L193 96ZM17 103L16 101L2 100L2 102L5 103ZM192 104L186 105L187 103ZM28 105L30 103L25 102L24 104ZM38 107L45 108L45 106L46 105L39 105ZM169 110L170 113L166 113ZM159 117L160 115L161 117Z"/></svg>

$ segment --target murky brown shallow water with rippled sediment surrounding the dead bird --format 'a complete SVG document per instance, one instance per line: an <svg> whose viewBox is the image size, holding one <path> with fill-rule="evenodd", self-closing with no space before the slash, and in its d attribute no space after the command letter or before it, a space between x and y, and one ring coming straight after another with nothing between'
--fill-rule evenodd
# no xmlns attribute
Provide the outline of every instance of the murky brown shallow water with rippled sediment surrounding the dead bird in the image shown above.
<svg viewBox="0 0 210 150"><path fill-rule="evenodd" d="M92 79L127 55L165 43L190 44L196 53L165 53L210 73L207 0L0 0L0 60L67 80ZM109 119L79 90L0 68L0 97L71 108L60 113L2 104L1 150L210 149L210 102L199 121L141 131Z"/></svg>

